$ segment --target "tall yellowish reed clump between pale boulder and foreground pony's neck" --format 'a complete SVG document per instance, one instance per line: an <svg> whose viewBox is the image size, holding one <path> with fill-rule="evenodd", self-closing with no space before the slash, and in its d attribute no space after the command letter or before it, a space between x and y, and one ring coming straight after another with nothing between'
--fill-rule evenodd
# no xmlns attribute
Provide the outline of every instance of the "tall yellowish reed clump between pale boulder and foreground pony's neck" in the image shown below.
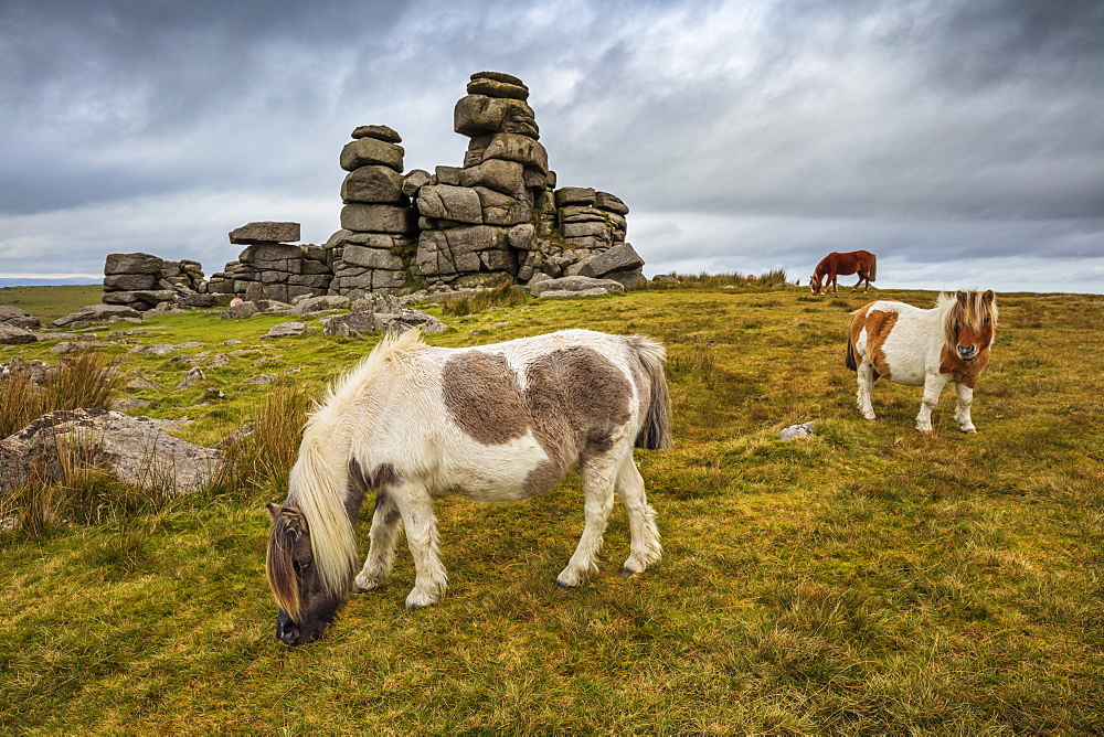
<svg viewBox="0 0 1104 737"><path fill-rule="evenodd" d="M253 419L221 444L219 485L230 492L286 489L310 408L306 389L283 375L254 408Z"/></svg>

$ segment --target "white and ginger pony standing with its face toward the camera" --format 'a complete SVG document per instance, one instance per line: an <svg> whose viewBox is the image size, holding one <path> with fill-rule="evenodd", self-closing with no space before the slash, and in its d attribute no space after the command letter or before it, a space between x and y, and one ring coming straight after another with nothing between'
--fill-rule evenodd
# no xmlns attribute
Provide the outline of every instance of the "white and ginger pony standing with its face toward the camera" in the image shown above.
<svg viewBox="0 0 1104 737"><path fill-rule="evenodd" d="M883 300L853 312L847 367L858 374L862 416L874 418L870 391L879 377L923 386L916 429L930 432L932 409L943 387L953 382L958 395L958 428L977 432L969 406L978 376L989 363L996 327L997 302L991 290L940 295L931 310Z"/></svg>

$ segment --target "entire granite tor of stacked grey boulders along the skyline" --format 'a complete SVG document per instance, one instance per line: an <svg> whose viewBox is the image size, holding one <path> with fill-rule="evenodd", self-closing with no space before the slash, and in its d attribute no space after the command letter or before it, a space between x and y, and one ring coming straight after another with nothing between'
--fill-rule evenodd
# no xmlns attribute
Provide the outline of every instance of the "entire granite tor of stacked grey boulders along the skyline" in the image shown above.
<svg viewBox="0 0 1104 737"><path fill-rule="evenodd" d="M297 223L250 223L230 234L245 245L194 287L203 296L290 302L304 296L352 299L421 288L495 286L552 278L606 277L625 288L645 280L644 260L625 242L628 206L608 192L556 188L540 142L529 87L509 74L477 72L453 110L466 136L458 167L403 173L402 137L386 126L360 126L341 149L341 229L321 246L293 245ZM163 264L146 254L109 263L105 301L148 305L170 287ZM156 260L151 260L156 259ZM184 261L181 261L184 264ZM198 265L197 265L198 266ZM201 275L202 276L202 275ZM108 280L105 279L105 289ZM174 299L189 306L200 296ZM138 309L144 309L138 307Z"/></svg>

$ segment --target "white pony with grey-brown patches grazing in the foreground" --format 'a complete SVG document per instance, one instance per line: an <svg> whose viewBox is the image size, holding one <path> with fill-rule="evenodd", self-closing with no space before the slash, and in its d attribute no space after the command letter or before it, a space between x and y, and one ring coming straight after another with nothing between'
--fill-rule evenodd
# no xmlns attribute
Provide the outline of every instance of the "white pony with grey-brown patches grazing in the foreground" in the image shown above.
<svg viewBox="0 0 1104 737"><path fill-rule="evenodd" d="M446 575L434 495L520 500L574 468L585 524L556 586L578 586L597 572L615 490L631 537L622 570L647 570L661 548L633 448L670 442L665 359L662 345L645 338L588 330L466 349L426 345L416 331L384 338L311 414L287 500L268 505L276 635L288 644L316 640L351 586L379 588L400 522L415 568L406 608L435 602ZM353 522L369 489L371 545L357 574Z"/></svg>

